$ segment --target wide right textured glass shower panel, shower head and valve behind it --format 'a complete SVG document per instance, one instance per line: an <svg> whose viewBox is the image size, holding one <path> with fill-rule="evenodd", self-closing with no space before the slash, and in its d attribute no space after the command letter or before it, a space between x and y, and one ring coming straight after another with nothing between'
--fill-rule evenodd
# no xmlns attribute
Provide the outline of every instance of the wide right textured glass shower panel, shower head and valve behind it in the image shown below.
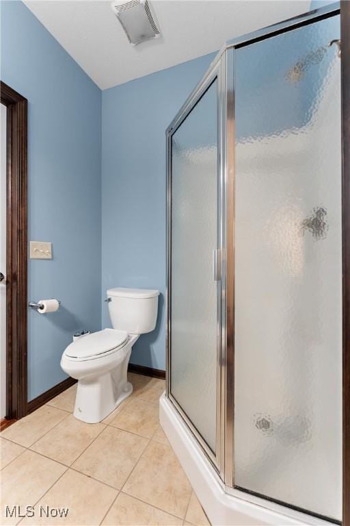
<svg viewBox="0 0 350 526"><path fill-rule="evenodd" d="M341 520L339 17L235 52L234 485Z"/></svg>

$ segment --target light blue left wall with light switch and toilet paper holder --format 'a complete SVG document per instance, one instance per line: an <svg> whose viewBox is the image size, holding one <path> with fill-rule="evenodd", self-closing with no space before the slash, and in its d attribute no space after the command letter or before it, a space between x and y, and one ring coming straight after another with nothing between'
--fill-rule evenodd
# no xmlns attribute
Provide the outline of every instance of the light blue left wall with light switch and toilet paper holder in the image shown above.
<svg viewBox="0 0 350 526"><path fill-rule="evenodd" d="M66 377L72 333L100 328L101 92L20 1L1 2L1 79L27 97L29 240L53 242L53 260L29 260L28 399Z"/></svg>

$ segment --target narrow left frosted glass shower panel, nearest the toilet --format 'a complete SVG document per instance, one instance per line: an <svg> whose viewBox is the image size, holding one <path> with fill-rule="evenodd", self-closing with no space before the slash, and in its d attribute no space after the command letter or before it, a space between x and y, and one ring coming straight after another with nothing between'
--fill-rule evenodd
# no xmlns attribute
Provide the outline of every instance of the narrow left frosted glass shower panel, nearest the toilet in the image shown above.
<svg viewBox="0 0 350 526"><path fill-rule="evenodd" d="M217 80L172 136L170 392L215 452Z"/></svg>

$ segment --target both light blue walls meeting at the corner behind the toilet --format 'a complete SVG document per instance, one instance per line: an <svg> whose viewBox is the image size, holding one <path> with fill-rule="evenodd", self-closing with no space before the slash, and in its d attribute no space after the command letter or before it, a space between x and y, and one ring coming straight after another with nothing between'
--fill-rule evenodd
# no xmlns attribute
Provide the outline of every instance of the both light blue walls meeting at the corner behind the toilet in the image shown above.
<svg viewBox="0 0 350 526"><path fill-rule="evenodd" d="M52 261L29 260L29 299L62 300L29 312L29 400L66 377L72 332L100 328L101 272L103 298L111 286L161 291L131 362L163 369L165 128L215 53L103 92L101 210L100 90L23 3L2 1L1 14L1 79L29 100L29 240L53 242Z"/></svg>

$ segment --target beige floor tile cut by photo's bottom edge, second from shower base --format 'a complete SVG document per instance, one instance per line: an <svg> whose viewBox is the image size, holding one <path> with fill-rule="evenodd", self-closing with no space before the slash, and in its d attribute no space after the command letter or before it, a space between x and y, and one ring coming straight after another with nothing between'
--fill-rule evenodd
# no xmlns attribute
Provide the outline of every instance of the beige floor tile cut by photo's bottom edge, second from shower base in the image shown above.
<svg viewBox="0 0 350 526"><path fill-rule="evenodd" d="M102 524L104 526L182 526L183 521L120 493Z"/></svg>

